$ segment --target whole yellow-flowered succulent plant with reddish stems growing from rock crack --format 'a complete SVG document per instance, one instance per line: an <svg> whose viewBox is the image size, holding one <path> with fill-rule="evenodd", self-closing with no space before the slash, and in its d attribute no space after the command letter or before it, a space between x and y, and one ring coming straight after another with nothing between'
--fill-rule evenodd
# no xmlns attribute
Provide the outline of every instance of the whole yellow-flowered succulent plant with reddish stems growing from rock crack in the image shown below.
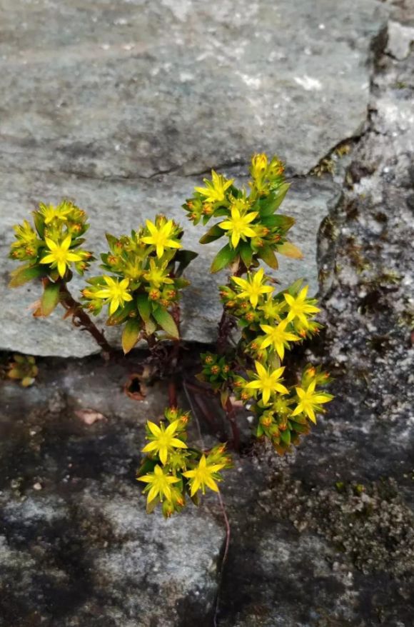
<svg viewBox="0 0 414 627"><path fill-rule="evenodd" d="M198 386L188 382L188 387L220 398L231 425L233 448L239 447L236 408L245 405L255 417L256 437L268 439L283 454L308 433L310 422L315 423L316 414L333 397L320 390L329 381L320 368L306 366L297 376L283 365L286 351L318 333L319 309L315 299L308 298L303 281L277 291L276 281L260 266L263 261L277 269L276 253L300 259L301 251L288 241L293 218L276 213L289 189L283 164L259 154L253 156L250 172L246 190L212 171L211 180L204 179L205 187L196 187L183 205L193 224L218 219L200 241L209 244L226 238L211 272L230 269L228 284L220 289L223 315L216 353L202 353ZM71 316L76 326L91 333L108 355L113 349L89 316L105 308L106 325L123 326L124 353L145 340L158 375L171 377L169 406L161 422L146 423L146 458L137 478L146 483L147 511L161 503L163 515L171 516L181 511L186 498L197 504L206 488L218 491L221 471L231 467L226 443L210 451L188 446L191 416L178 408L172 376L180 361L179 299L188 285L182 274L196 256L183 250L181 226L158 215L129 236L107 234L109 251L101 255L104 273L87 279L79 303L68 284L74 270L83 275L94 261L81 248L89 226L85 212L62 201L56 207L41 204L33 217L34 226L24 221L14 227L11 257L24 264L12 273L10 285L41 279L43 294L34 316L49 316L60 303L65 317ZM185 381L183 386L186 389Z"/></svg>

